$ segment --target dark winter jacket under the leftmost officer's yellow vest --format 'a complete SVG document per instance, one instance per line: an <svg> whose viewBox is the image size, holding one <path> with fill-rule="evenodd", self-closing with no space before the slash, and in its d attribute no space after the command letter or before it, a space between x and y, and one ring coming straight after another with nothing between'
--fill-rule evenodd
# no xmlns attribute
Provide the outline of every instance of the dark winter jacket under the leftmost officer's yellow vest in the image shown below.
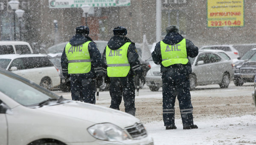
<svg viewBox="0 0 256 145"><path fill-rule="evenodd" d="M91 59L91 70L89 73L80 74L80 76L82 76L83 78L96 78L96 76L98 75L102 76L102 66L101 66L102 58L101 58L99 49L96 46L96 43L93 42L93 40L87 35L76 34L70 39L70 44L72 46L78 46L78 45L84 44L87 41L92 41L88 45L88 51ZM67 70L67 66L68 66L68 59L67 59L67 55L64 48L64 51L62 52L62 56L61 56L61 67L62 69ZM62 71L62 74L64 77L68 76L68 73L63 73L63 71Z"/></svg>

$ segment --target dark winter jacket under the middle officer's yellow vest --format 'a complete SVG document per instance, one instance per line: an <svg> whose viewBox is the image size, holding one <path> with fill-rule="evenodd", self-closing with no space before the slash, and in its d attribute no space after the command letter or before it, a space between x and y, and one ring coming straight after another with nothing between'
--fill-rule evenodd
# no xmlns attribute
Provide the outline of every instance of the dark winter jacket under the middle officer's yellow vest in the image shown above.
<svg viewBox="0 0 256 145"><path fill-rule="evenodd" d="M114 35L110 41L108 41L108 47L112 50L119 49L121 46L123 46L126 42L131 42L131 40L125 36L122 35ZM128 52L127 52L127 58L130 64L130 71L128 73L129 76L133 76L135 74L142 75L143 70L142 67L140 66L140 61L138 60L139 55L137 53L135 44L131 42L131 44L128 47ZM107 61L106 61L106 47L104 49L104 52L102 54L102 69L103 69L103 76L106 77L107 75ZM135 70L137 69L137 70ZM134 72L135 70L135 72Z"/></svg>

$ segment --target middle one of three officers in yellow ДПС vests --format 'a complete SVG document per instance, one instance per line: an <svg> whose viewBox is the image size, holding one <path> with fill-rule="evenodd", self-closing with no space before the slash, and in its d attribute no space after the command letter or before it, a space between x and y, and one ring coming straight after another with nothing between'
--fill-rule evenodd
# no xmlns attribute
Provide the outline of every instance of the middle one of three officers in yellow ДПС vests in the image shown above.
<svg viewBox="0 0 256 145"><path fill-rule="evenodd" d="M135 116L135 86L134 75L138 75L145 84L143 70L138 60L135 44L125 35L127 29L118 26L113 29L114 36L108 41L108 45L102 55L103 74L105 83L110 83L110 108L119 110L119 105L125 102L125 112Z"/></svg>

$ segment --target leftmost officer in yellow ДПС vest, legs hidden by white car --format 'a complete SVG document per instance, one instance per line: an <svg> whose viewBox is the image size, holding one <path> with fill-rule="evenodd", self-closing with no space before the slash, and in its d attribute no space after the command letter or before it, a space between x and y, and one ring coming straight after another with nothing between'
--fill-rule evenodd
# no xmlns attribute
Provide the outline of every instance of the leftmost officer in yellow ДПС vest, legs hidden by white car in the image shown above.
<svg viewBox="0 0 256 145"><path fill-rule="evenodd" d="M102 85L101 54L88 36L87 26L76 27L61 56L62 74L70 75L72 100L95 104L95 78Z"/></svg>

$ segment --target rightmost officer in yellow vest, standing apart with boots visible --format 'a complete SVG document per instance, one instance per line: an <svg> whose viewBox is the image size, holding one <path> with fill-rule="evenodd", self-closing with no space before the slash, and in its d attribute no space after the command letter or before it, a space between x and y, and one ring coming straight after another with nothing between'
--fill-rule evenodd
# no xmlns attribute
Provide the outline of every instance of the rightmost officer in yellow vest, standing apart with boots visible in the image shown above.
<svg viewBox="0 0 256 145"><path fill-rule="evenodd" d="M155 64L161 65L163 81L163 122L166 130L176 129L175 99L179 101L183 129L198 128L193 123L189 74L192 73L188 57L198 55L198 47L183 38L177 26L166 28L167 35L158 42L152 52Z"/></svg>

